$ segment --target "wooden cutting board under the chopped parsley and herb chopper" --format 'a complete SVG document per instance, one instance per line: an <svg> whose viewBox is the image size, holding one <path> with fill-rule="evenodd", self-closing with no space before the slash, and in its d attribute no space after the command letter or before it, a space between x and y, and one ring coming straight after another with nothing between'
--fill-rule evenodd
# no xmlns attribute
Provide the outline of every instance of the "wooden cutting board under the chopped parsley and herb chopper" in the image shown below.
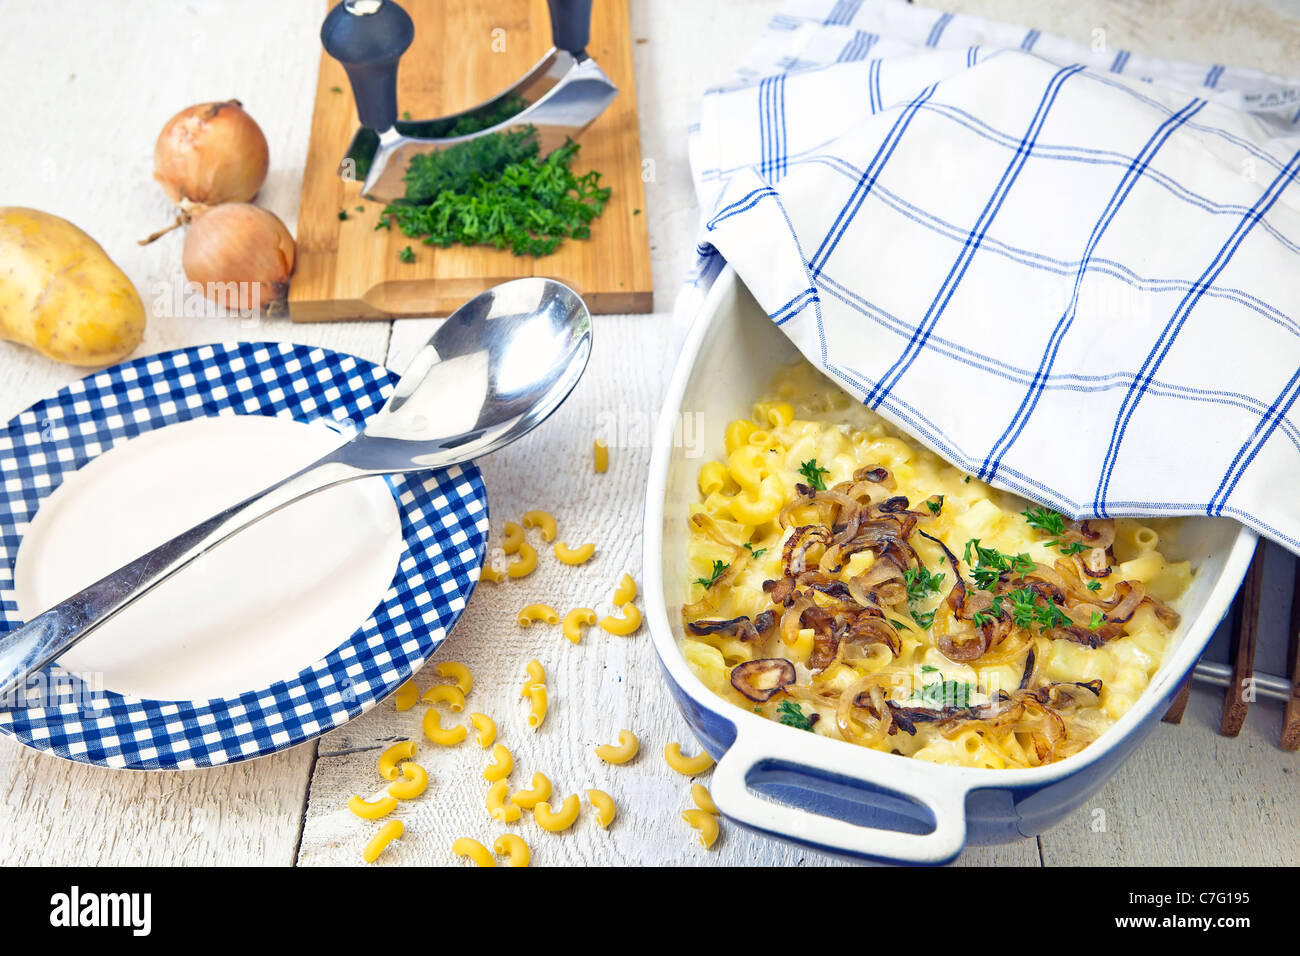
<svg viewBox="0 0 1300 956"><path fill-rule="evenodd" d="M329 5L321 8L322 18ZM417 120L489 99L551 47L546 0L402 0L402 5L415 21L415 42L398 72L398 108ZM572 286L593 312L651 311L627 0L595 0L588 52L619 95L582 134L573 169L601 170L601 183L612 195L589 239L567 241L541 259L485 246L443 250L396 229L376 232L382 206L363 199L359 182L338 176L358 127L356 108L343 68L322 52L298 213L298 263L289 290L292 319L447 315L484 289L524 276ZM359 206L364 212L356 211ZM406 246L416 254L413 263L398 258Z"/></svg>

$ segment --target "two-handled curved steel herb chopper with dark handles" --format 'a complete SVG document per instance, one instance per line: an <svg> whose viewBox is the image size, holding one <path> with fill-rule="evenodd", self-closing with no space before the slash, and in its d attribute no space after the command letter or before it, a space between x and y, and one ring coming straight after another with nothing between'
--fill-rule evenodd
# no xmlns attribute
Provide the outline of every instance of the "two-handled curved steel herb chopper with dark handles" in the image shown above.
<svg viewBox="0 0 1300 956"><path fill-rule="evenodd" d="M532 126L542 155L576 139L618 95L586 55L592 0L547 0L552 48L521 79L493 99L437 120L398 118L398 62L415 38L410 14L394 0L343 0L321 25L325 52L347 72L361 127L339 164L364 179L367 199L406 195L412 156L491 133Z"/></svg>

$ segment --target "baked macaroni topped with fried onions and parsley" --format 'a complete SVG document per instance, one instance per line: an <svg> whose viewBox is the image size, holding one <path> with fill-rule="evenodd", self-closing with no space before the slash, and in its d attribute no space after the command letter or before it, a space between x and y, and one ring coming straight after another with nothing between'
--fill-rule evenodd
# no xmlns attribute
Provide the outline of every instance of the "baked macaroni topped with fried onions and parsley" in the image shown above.
<svg viewBox="0 0 1300 956"><path fill-rule="evenodd" d="M939 763L1076 753L1143 692L1191 580L1176 522L1072 522L946 464L807 363L690 509L682 652L772 721Z"/></svg>

